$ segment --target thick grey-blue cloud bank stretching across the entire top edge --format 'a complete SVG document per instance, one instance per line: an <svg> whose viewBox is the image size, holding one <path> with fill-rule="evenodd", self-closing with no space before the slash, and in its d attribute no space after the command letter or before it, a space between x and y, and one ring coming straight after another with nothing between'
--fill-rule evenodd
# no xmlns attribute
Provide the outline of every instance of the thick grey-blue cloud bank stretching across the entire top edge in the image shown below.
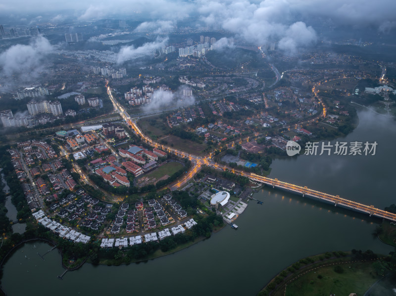
<svg viewBox="0 0 396 296"><path fill-rule="evenodd" d="M395 0L14 0L1 1L0 13L39 22L44 14L52 22L66 17L86 21L106 17L146 18L139 30L166 32L178 20L196 16L203 24L217 23L252 44L279 42L293 51L317 41L310 20L323 19L334 26L370 26L389 32L396 27ZM68 12L61 13L60 11ZM50 15L50 17L48 17Z"/></svg>

